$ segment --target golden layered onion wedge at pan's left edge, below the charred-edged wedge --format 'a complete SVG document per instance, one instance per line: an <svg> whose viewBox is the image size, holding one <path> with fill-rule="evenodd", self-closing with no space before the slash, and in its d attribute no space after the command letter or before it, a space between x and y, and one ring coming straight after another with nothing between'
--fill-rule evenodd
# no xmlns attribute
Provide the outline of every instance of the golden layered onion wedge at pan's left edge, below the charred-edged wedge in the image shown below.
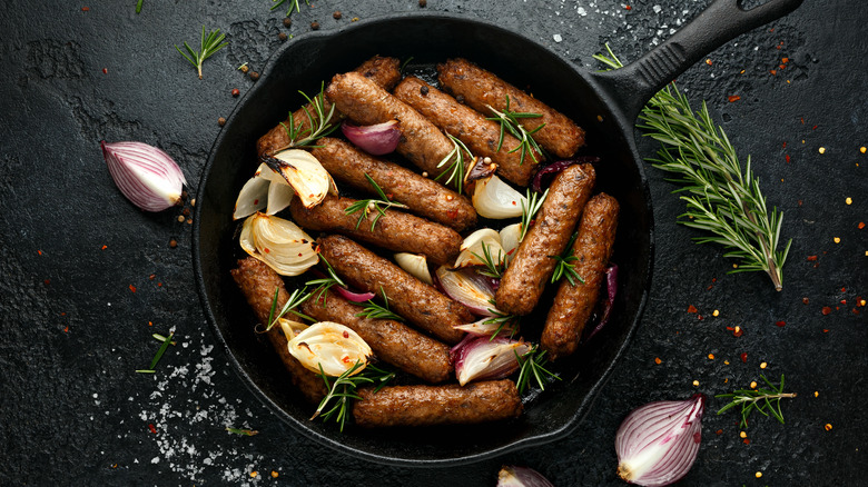
<svg viewBox="0 0 868 487"><path fill-rule="evenodd" d="M238 240L247 254L282 276L298 276L319 261L313 239L279 217L262 212L247 217Z"/></svg>

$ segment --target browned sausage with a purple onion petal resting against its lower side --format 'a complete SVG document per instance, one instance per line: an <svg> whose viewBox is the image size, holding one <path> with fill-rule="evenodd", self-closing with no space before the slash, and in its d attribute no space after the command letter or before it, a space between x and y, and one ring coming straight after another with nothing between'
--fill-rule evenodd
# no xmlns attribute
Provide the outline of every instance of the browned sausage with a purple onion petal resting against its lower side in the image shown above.
<svg viewBox="0 0 868 487"><path fill-rule="evenodd" d="M445 166L437 168L437 165L452 152L452 141L434 123L375 82L356 72L336 74L326 97L351 120L363 126L397 120L402 137L396 151L428 175L445 170Z"/></svg>

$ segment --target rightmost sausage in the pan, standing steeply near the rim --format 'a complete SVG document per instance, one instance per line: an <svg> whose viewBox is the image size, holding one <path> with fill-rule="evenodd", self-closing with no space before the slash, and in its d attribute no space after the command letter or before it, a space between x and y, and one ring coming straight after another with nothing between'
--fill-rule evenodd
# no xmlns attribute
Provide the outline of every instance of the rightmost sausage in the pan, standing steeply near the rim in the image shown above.
<svg viewBox="0 0 868 487"><path fill-rule="evenodd" d="M554 360L575 351L582 337L582 329L596 305L605 266L612 257L615 228L618 227L618 201L600 193L591 198L579 223L579 238L573 244L575 271L584 284L561 282L554 304L549 309L542 334L542 348Z"/></svg>

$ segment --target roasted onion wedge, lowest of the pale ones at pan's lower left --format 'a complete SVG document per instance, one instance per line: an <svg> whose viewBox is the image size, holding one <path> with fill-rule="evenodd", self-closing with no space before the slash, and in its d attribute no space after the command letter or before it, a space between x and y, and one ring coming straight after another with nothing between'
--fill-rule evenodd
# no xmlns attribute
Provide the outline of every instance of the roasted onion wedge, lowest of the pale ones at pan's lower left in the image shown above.
<svg viewBox="0 0 868 487"><path fill-rule="evenodd" d="M356 362L361 366L353 372L365 369L371 347L355 331L333 321L310 325L296 334L288 344L289 354L297 358L306 369L316 374L325 372L338 377ZM320 370L322 367L322 370Z"/></svg>

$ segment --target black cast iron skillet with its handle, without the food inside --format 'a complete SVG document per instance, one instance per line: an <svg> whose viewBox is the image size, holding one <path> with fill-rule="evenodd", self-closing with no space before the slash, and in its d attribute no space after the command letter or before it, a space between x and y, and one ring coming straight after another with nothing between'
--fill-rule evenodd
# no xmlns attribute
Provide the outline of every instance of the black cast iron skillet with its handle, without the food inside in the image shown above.
<svg viewBox="0 0 868 487"><path fill-rule="evenodd" d="M562 438L585 416L632 336L653 261L651 198L633 141L637 115L660 88L727 40L781 17L801 0L771 0L749 11L718 0L671 39L617 71L589 73L545 47L496 24L443 13L396 14L299 36L275 52L264 74L227 120L205 167L194 225L194 267L208 322L229 360L277 416L339 450L396 465L455 465ZM612 321L574 357L556 365L563 380L525 400L509 424L415 430L363 430L310 421L313 408L289 385L268 344L251 330L253 312L229 275L239 257L235 199L257 167L255 142L323 80L373 54L414 58L416 66L468 58L576 120L586 153L601 156L598 189L621 203L613 260L621 267ZM536 324L539 328L540 324ZM526 329L534 324L525 320Z"/></svg>

